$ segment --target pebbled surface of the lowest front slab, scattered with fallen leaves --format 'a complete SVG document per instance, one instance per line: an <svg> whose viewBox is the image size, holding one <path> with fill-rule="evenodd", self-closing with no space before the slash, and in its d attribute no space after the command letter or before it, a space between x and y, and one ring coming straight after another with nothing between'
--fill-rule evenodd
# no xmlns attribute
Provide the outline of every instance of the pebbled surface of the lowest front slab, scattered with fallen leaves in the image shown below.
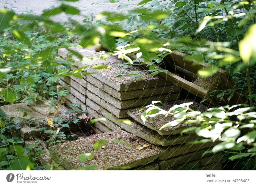
<svg viewBox="0 0 256 186"><path fill-rule="evenodd" d="M61 159L67 161L68 164L74 168L92 164L98 165L99 167L96 168L97 170L129 169L132 167L139 167L153 162L157 158L159 148L154 145L150 145L144 150L137 150L136 147L140 145L141 142L132 141L132 138L132 134L123 130L102 133L87 138L79 137L76 141L69 141L56 146L54 148L54 158L60 156ZM111 141L111 139L121 140L125 143L131 144L132 146L116 143ZM93 144L100 140L107 140L108 144L104 145L105 148L95 150ZM96 155L91 160L87 160L85 163L82 163L78 158L78 154L82 153L95 153ZM64 167L70 168L68 166Z"/></svg>

